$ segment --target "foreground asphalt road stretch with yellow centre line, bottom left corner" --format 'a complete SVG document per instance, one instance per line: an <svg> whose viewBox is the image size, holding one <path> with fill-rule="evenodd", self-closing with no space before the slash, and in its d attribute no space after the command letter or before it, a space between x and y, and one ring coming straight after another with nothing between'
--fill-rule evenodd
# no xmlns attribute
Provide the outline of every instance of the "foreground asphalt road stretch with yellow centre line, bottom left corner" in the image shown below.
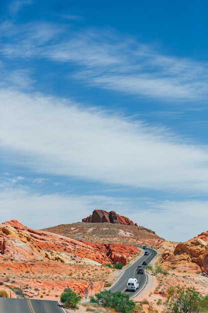
<svg viewBox="0 0 208 313"><path fill-rule="evenodd" d="M58 301L0 298L0 313L64 313Z"/></svg>

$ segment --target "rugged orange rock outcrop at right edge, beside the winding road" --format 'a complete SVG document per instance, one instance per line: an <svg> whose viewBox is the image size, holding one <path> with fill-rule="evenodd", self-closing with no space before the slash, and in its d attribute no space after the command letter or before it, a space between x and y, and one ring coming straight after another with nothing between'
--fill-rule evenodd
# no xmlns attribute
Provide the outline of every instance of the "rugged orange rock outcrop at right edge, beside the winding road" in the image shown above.
<svg viewBox="0 0 208 313"><path fill-rule="evenodd" d="M186 264L208 273L208 231L187 242L178 243L173 252L163 254L162 260L177 266Z"/></svg>

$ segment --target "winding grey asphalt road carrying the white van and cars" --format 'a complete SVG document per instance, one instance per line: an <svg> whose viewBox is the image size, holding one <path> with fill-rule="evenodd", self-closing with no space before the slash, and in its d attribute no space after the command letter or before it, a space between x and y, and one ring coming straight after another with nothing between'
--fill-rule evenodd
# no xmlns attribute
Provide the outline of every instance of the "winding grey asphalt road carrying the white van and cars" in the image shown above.
<svg viewBox="0 0 208 313"><path fill-rule="evenodd" d="M151 260L157 255L157 251L147 248L146 250L148 251L149 255L143 255L141 256L136 262L134 262L131 266L129 266L123 273L122 275L119 277L119 279L112 285L112 287L110 287L109 289L112 292L115 291L121 291L123 293L129 294L130 298L133 298L134 296L136 296L146 285L147 283L147 274L146 271L144 271L144 274L137 274L136 273L136 268L138 265L142 265L143 261L147 261L147 263L149 264L151 262ZM143 265L144 268L146 267L145 265ZM126 291L126 284L129 278L137 278L137 280L139 281L139 289L137 291Z"/></svg>

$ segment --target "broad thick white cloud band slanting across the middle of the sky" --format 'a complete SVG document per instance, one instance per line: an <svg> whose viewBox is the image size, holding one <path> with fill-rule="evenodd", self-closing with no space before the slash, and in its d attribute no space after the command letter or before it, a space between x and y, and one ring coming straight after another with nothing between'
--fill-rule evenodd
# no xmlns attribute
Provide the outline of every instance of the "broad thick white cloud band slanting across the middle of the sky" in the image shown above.
<svg viewBox="0 0 208 313"><path fill-rule="evenodd" d="M142 187L206 192L208 148L70 101L1 90L0 147L42 173Z"/></svg>

